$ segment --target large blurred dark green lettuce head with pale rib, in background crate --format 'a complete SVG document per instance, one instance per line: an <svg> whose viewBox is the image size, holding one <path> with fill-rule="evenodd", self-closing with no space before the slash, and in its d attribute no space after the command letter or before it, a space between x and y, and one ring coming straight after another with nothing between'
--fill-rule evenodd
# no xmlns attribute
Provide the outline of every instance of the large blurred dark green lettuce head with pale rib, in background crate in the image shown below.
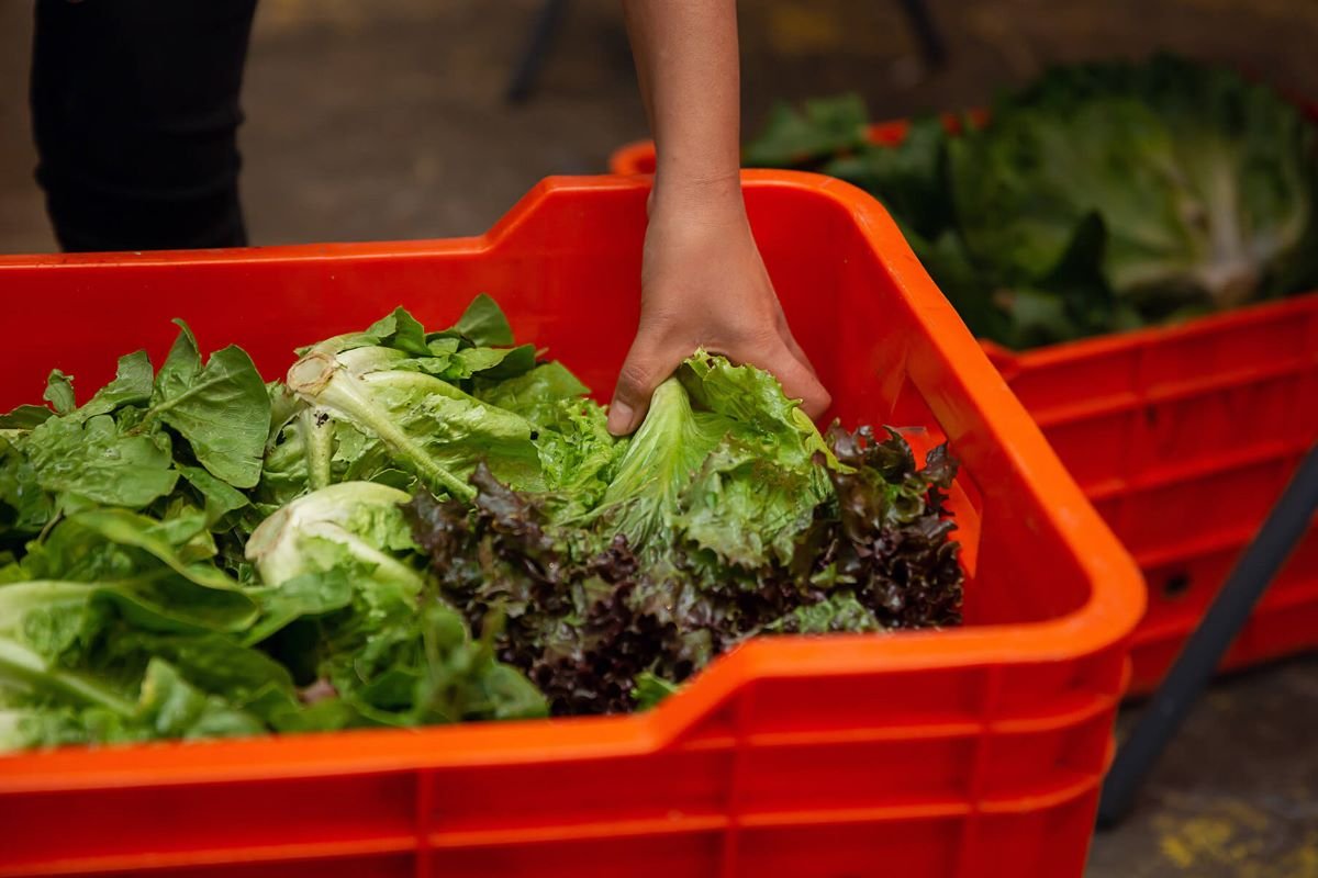
<svg viewBox="0 0 1318 878"><path fill-rule="evenodd" d="M1314 222L1313 125L1261 86L1170 58L1054 71L949 142L967 247L1044 278L1097 216L1116 301L1145 319L1278 292Z"/></svg>

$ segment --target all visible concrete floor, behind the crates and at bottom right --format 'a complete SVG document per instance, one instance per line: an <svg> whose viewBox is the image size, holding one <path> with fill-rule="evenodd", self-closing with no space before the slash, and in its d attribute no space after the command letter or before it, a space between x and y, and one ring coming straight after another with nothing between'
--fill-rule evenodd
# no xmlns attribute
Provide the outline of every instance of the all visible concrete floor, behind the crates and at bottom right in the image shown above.
<svg viewBox="0 0 1318 878"><path fill-rule="evenodd" d="M497 12L490 12L497 5ZM1168 47L1318 96L1307 0L932 0L952 63L921 70L895 3L743 4L745 111L861 91L875 117L971 107L1052 61ZM262 0L246 80L253 242L489 226L535 180L645 134L617 0L576 0L539 95L501 91L535 0ZM30 7L0 3L0 253L53 247L32 182ZM4 291L0 291L0 296ZM1132 713L1127 713L1126 721ZM1219 683L1089 874L1318 877L1318 658Z"/></svg>

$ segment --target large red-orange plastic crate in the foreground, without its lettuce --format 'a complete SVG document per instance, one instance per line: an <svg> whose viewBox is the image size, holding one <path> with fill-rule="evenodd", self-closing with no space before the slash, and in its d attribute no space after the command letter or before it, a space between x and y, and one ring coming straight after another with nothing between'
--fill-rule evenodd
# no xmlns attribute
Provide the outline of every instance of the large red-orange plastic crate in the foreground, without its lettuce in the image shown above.
<svg viewBox="0 0 1318 878"><path fill-rule="evenodd" d="M647 184L548 180L478 238L0 258L0 407L83 391L185 317L269 376L403 304L494 295L608 394ZM779 637L637 716L0 758L0 875L1079 875L1144 587L883 209L751 172L746 200L846 423L920 424L963 469L963 628ZM1008 866L1010 865L1010 866Z"/></svg>

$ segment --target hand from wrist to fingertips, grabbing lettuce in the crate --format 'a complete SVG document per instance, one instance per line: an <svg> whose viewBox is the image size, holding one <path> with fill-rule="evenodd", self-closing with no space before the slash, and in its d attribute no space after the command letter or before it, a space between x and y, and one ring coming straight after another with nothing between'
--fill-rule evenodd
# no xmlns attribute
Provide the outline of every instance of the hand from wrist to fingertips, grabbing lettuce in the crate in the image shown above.
<svg viewBox="0 0 1318 878"><path fill-rule="evenodd" d="M609 432L635 430L655 387L697 348L771 373L811 417L829 405L751 237L739 178L652 192L641 325L609 407Z"/></svg>

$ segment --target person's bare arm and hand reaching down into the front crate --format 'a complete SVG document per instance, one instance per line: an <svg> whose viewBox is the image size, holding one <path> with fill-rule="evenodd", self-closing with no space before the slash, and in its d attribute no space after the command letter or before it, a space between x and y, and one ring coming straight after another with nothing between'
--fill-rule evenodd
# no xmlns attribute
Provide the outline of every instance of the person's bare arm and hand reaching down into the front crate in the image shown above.
<svg viewBox="0 0 1318 878"><path fill-rule="evenodd" d="M828 391L787 326L741 194L735 0L622 0L655 137L641 323L609 430L630 433L650 395L697 348L767 369L816 416Z"/></svg>

